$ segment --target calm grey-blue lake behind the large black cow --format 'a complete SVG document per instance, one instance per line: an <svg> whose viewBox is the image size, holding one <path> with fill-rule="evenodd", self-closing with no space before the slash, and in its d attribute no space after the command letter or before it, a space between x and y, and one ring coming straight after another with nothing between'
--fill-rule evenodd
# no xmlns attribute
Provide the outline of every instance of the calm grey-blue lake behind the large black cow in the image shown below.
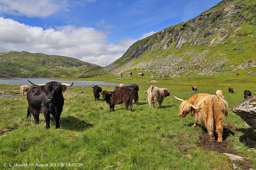
<svg viewBox="0 0 256 170"><path fill-rule="evenodd" d="M51 81L57 81L62 83L68 83L71 84L74 82L73 86L90 86L90 85L119 85L120 83L109 83L109 82L103 82L103 81L82 81L82 80L52 80L49 78L15 78L18 80L0 80L0 84L9 84L9 85L31 85L29 81L36 83L36 84L42 84L42 83L48 83ZM123 83L124 85L131 85L129 83Z"/></svg>

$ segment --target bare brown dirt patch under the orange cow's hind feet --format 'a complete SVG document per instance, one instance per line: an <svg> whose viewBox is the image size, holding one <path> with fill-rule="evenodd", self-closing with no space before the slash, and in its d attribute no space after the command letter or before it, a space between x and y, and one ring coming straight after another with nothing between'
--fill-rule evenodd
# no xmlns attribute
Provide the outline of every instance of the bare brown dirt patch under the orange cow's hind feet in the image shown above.
<svg viewBox="0 0 256 170"><path fill-rule="evenodd" d="M204 148L205 150L214 150L219 152L220 154L222 153L229 153L229 154L234 154L234 155L239 155L242 156L240 153L235 152L228 146L228 140L226 138L230 135L234 135L237 133L238 130L234 126L226 125L223 128L223 142L218 143L218 142L210 142L210 137L208 135L207 129L204 129L204 131L199 135L199 141L197 142L197 146ZM218 135L214 133L215 140L217 141ZM253 166L253 164L249 161L233 161L236 165L238 165L241 169L249 169ZM230 160L230 164L231 160Z"/></svg>

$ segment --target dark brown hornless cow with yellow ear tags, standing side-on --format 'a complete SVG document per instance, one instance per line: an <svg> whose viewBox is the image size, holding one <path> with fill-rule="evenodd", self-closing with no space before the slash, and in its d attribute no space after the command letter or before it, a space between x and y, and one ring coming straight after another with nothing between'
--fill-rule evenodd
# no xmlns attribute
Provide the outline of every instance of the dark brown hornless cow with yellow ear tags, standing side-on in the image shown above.
<svg viewBox="0 0 256 170"><path fill-rule="evenodd" d="M109 104L109 112L114 111L115 105L119 105L124 103L125 108L128 110L128 106L130 110L133 109L133 97L131 89L122 89L114 92L108 92L106 90L101 92L102 98L106 100L106 103Z"/></svg>

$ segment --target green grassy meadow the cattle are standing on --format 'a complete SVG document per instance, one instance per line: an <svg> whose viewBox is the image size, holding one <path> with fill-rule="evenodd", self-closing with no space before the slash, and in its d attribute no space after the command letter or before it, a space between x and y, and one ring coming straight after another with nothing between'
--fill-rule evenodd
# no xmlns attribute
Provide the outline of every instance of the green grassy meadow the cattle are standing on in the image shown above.
<svg viewBox="0 0 256 170"><path fill-rule="evenodd" d="M100 97L94 101L92 88L71 87L64 93L64 107L60 118L60 129L55 129L51 116L49 130L45 130L44 116L40 124L34 118L26 119L26 96L0 99L0 169L4 163L65 163L64 167L6 167L5 169L256 169L256 152L249 147L243 136L256 137L255 131L244 125L244 121L230 111L243 100L243 91L256 92L254 76L239 71L240 75L218 75L181 78L130 77L116 79L114 76L95 77L90 80L115 80L139 85L139 104L133 105L133 112L125 110L124 104L116 105L109 113L109 105ZM135 79L136 78L136 79ZM254 79L253 79L254 78ZM226 117L227 132L223 143L204 143L210 137L199 125L191 127L193 118L188 114L178 116L180 101L166 97L162 109L149 109L147 94L150 80L158 80L156 86L169 88L182 99L194 94L215 94L223 91L228 101ZM247 81L245 81L247 80ZM198 86L191 92L190 85ZM15 93L19 86L0 85L0 90ZM233 87L234 94L228 93ZM103 90L112 91L114 86L102 85ZM158 104L157 104L158 107ZM206 136L202 139L203 136ZM199 146L200 144L200 146ZM207 147L204 147L208 145ZM236 149L235 147L238 147ZM215 148L214 150L209 148ZM231 161L218 152L225 148L236 155L249 157L249 161ZM76 163L77 166L66 163ZM79 163L82 163L82 166Z"/></svg>

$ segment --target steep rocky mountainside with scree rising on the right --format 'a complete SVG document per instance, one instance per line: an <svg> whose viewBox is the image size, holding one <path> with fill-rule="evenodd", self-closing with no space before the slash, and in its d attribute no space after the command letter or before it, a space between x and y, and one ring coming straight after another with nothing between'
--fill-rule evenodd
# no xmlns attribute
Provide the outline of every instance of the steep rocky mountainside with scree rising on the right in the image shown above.
<svg viewBox="0 0 256 170"><path fill-rule="evenodd" d="M177 77L256 67L256 1L224 0L186 22L135 42L105 71Z"/></svg>

